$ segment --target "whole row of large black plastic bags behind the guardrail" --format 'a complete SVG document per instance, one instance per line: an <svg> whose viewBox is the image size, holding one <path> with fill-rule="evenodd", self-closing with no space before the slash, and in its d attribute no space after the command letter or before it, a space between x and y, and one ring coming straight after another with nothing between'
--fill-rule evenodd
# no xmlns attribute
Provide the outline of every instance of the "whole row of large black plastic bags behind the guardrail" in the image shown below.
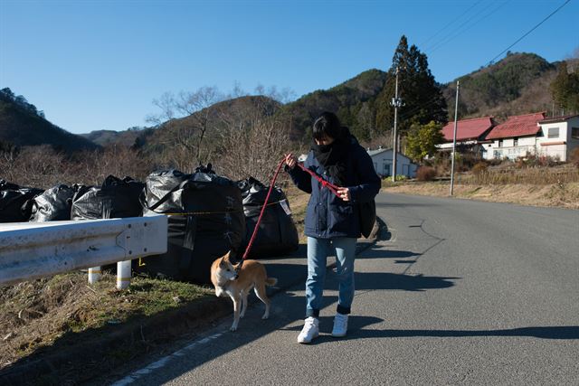
<svg viewBox="0 0 579 386"><path fill-rule="evenodd" d="M135 259L133 269L152 277L209 284L214 259L230 250L241 259L267 192L268 187L253 178L234 183L215 174L211 165L193 174L155 172L145 184L109 175L100 186L59 184L43 191L0 180L0 222L166 214L166 254ZM298 231L289 213L285 194L274 187L250 259L298 248Z"/></svg>

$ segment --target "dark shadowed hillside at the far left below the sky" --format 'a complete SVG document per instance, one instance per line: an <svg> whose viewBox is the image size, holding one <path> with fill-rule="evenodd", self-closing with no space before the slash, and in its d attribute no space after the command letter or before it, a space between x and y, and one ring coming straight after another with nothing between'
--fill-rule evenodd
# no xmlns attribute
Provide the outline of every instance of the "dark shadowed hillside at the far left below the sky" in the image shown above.
<svg viewBox="0 0 579 386"><path fill-rule="evenodd" d="M99 147L53 125L42 111L37 111L24 97L14 97L10 89L0 92L0 142L14 146L52 145L65 151Z"/></svg>

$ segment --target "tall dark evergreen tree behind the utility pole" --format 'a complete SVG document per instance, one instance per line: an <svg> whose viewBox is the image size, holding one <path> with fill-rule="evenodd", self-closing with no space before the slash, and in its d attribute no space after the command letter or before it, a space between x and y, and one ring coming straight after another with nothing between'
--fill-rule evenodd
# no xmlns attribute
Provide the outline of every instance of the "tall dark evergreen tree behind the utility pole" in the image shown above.
<svg viewBox="0 0 579 386"><path fill-rule="evenodd" d="M398 96L404 103L398 109L399 130L403 133L413 123L425 125L431 120L446 123L446 100L428 68L428 59L415 45L409 48L403 35L394 52L384 89L376 99L376 126L384 131L394 127L394 108L390 101L394 98L396 68Z"/></svg>

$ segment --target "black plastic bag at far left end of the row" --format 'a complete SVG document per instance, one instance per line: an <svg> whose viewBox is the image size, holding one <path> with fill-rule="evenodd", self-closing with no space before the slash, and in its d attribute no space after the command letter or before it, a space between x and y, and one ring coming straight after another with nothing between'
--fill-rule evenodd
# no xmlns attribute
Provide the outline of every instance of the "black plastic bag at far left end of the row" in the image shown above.
<svg viewBox="0 0 579 386"><path fill-rule="evenodd" d="M40 193L43 193L42 189L27 188L0 179L0 222L28 221L32 199Z"/></svg>

